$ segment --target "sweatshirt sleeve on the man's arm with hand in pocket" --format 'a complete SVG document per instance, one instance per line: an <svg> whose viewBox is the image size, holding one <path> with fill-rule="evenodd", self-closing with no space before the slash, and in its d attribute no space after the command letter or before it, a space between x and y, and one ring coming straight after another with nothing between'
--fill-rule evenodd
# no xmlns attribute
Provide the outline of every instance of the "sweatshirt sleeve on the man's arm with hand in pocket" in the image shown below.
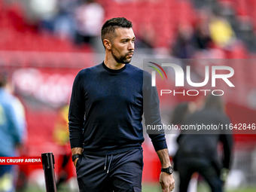
<svg viewBox="0 0 256 192"><path fill-rule="evenodd" d="M75 77L69 105L69 140L71 148L83 148L85 100L81 72Z"/></svg>

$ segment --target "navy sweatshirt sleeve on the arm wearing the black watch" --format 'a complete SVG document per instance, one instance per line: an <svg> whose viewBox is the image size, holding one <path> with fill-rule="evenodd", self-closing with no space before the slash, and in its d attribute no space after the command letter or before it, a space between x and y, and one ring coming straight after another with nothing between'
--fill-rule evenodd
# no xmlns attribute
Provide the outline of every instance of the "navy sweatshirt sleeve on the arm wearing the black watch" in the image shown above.
<svg viewBox="0 0 256 192"><path fill-rule="evenodd" d="M150 130L148 127L162 125L159 108L159 97L157 88L151 86L151 75L148 72L143 74L143 111L145 126L148 136L154 145L154 150L159 151L167 148L164 130Z"/></svg>

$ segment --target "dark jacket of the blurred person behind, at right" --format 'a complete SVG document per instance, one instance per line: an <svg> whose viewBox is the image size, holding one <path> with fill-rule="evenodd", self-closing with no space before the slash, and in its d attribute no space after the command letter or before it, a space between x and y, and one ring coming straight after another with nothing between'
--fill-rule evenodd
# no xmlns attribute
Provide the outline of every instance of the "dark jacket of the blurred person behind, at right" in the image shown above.
<svg viewBox="0 0 256 192"><path fill-rule="evenodd" d="M196 111L194 114L188 115L184 120L184 125L228 125L229 123L230 120L226 114L208 108ZM221 159L218 156L219 142L222 142L224 149L224 156ZM206 158L220 172L222 167L230 168L232 145L233 139L230 134L182 134L178 137L179 148L176 157L178 159L190 157Z"/></svg>

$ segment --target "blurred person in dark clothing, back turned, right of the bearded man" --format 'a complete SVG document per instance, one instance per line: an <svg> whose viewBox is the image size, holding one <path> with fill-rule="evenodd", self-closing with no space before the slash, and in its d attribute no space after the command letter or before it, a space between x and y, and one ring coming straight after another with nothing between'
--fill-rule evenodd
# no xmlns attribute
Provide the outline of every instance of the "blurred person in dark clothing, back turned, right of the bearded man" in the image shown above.
<svg viewBox="0 0 256 192"><path fill-rule="evenodd" d="M184 118L184 125L218 125L229 124L230 120L224 113L224 102L221 96L209 96L202 110ZM196 131L197 132L197 131ZM206 133L209 134L206 134ZM189 134L192 133L192 134ZM187 191L191 175L200 173L209 183L212 192L222 192L225 178L230 169L230 157L233 146L233 136L229 133L213 132L206 130L203 134L193 134L187 130L181 130L178 137L178 151L175 154L175 168L179 172L179 191ZM218 146L223 145L220 157Z"/></svg>

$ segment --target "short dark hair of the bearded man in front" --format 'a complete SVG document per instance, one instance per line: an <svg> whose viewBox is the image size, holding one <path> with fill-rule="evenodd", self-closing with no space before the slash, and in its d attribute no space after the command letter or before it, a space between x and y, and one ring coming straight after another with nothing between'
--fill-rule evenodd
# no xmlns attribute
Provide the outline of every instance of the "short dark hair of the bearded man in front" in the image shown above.
<svg viewBox="0 0 256 192"><path fill-rule="evenodd" d="M124 17L117 17L107 20L102 26L102 42L105 38L108 38L109 41L114 38L114 30L117 28L132 28L133 23L130 20L126 20Z"/></svg>

